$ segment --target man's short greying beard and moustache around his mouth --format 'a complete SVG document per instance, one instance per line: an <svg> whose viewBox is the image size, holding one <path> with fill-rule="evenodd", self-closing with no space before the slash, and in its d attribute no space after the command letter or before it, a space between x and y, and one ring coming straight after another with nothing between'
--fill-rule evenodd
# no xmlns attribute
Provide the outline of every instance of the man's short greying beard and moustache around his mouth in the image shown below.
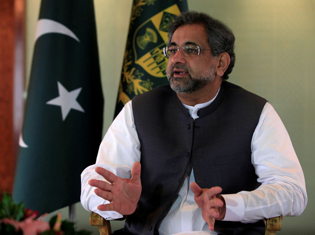
<svg viewBox="0 0 315 235"><path fill-rule="evenodd" d="M187 71L189 76L184 78L175 78L173 72L174 68ZM212 82L215 79L216 70L214 63L210 64L206 71L197 72L191 71L191 69L186 65L174 64L167 68L166 75L172 90L179 94L190 94Z"/></svg>

